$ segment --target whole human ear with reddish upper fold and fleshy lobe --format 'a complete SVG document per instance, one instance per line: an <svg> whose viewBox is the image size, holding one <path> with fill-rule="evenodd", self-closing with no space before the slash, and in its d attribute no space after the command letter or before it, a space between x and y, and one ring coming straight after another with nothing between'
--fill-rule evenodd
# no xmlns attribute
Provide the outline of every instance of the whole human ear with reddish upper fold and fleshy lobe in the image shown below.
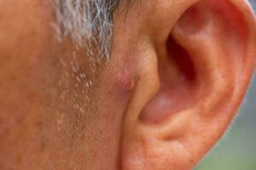
<svg viewBox="0 0 256 170"><path fill-rule="evenodd" d="M122 169L194 167L236 116L252 77L256 26L247 1L178 2L156 3L149 20L163 22L156 32L154 22L143 28L149 41L138 46L153 43L144 49L154 57L140 61L145 69L125 112ZM166 33L173 8L177 20Z"/></svg>

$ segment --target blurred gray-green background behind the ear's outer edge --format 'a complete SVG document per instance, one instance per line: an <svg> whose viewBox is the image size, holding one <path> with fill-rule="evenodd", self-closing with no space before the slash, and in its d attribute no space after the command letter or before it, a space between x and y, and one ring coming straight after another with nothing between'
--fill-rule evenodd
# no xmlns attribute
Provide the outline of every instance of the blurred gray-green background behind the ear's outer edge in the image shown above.
<svg viewBox="0 0 256 170"><path fill-rule="evenodd" d="M230 130L195 170L256 170L256 73Z"/></svg>

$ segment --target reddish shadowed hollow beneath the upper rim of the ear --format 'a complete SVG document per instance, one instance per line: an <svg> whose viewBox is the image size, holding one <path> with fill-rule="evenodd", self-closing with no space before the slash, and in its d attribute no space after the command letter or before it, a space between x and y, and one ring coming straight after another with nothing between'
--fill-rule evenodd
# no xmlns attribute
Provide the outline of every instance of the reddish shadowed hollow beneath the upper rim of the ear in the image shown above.
<svg viewBox="0 0 256 170"><path fill-rule="evenodd" d="M248 28L245 16L230 1L204 0L189 8L175 28L194 38L198 34L223 37L226 42L245 45Z"/></svg>

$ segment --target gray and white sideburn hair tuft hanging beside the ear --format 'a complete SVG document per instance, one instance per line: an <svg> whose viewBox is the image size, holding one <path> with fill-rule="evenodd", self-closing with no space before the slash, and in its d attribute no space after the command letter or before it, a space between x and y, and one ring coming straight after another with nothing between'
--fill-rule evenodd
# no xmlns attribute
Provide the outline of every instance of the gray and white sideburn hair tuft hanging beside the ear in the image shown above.
<svg viewBox="0 0 256 170"><path fill-rule="evenodd" d="M55 30L61 41L70 36L97 60L109 59L113 10L119 0L55 0Z"/></svg>

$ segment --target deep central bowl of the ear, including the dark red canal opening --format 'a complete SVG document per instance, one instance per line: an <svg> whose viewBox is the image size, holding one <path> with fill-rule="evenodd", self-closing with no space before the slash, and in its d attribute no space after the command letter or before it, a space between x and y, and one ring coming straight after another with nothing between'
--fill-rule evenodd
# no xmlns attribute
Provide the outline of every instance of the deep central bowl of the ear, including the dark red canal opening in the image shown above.
<svg viewBox="0 0 256 170"><path fill-rule="evenodd" d="M198 98L198 79L189 53L172 34L166 41L166 55L159 57L160 90L142 111L140 119L160 123L172 114L195 104Z"/></svg>

